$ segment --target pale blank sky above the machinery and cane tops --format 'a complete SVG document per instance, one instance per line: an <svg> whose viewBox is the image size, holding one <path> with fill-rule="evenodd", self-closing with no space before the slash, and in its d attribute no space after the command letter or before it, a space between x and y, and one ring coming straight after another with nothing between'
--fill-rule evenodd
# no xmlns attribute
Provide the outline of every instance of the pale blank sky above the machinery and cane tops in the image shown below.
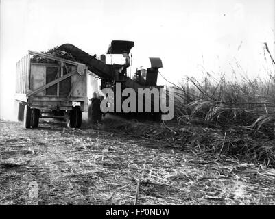
<svg viewBox="0 0 275 219"><path fill-rule="evenodd" d="M5 109L15 104L16 62L27 50L71 43L100 55L112 40L132 40L132 72L160 57L160 73L173 83L202 69L230 71L232 62L257 75L263 42L275 54L274 0L1 0L0 7L0 118L14 114Z"/></svg>

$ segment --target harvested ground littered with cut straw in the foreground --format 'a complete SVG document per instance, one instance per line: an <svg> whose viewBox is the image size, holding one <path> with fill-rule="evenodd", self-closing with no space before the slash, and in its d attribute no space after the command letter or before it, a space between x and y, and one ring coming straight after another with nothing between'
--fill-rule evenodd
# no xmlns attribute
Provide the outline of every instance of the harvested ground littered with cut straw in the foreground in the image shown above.
<svg viewBox="0 0 275 219"><path fill-rule="evenodd" d="M0 121L0 205L274 205L275 171L146 138Z"/></svg>

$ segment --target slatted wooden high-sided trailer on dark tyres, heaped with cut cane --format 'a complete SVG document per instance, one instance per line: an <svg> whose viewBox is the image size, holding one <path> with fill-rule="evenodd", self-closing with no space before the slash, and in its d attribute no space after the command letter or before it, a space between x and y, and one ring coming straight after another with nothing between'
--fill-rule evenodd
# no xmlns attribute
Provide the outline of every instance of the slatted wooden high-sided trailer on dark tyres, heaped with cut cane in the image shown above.
<svg viewBox="0 0 275 219"><path fill-rule="evenodd" d="M38 55L51 62L32 62ZM88 67L80 62L28 51L16 64L18 119L25 128L38 127L39 118L59 118L80 128L88 111Z"/></svg>

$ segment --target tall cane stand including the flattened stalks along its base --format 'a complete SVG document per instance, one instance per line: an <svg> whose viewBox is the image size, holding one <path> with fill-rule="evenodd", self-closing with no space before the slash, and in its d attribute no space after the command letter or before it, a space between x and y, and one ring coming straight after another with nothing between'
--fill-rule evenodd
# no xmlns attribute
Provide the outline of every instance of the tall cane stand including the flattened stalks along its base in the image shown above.
<svg viewBox="0 0 275 219"><path fill-rule="evenodd" d="M182 130L189 127L193 138L187 143L194 149L275 167L275 63L270 59L272 68L261 77L246 76L237 63L231 74L204 73L174 86L180 129L173 139L185 138Z"/></svg>

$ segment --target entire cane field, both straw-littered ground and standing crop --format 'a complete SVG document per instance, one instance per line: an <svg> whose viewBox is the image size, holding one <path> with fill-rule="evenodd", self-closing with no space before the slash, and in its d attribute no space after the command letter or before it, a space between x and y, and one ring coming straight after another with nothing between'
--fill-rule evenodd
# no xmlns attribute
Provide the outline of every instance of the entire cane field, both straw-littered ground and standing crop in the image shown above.
<svg viewBox="0 0 275 219"><path fill-rule="evenodd" d="M236 62L232 75L204 71L172 84L169 122L106 116L68 129L41 119L23 129L0 120L0 204L274 205L270 59L266 77L247 77Z"/></svg>

